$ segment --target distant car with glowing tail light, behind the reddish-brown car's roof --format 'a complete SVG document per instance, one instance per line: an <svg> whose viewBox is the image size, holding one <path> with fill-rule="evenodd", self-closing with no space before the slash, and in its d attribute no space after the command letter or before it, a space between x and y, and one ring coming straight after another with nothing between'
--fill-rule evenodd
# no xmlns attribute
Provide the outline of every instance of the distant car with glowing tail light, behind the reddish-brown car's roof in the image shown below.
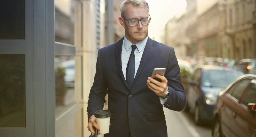
<svg viewBox="0 0 256 137"><path fill-rule="evenodd" d="M245 74L256 74L256 59L242 59L237 62L235 68L243 71Z"/></svg>

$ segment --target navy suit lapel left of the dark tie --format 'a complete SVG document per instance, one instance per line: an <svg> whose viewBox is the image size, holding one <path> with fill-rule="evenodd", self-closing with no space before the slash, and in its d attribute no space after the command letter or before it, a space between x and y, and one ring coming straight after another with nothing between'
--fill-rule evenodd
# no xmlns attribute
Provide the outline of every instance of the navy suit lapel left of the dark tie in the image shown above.
<svg viewBox="0 0 256 137"><path fill-rule="evenodd" d="M124 78L124 74L122 71L122 45L123 45L123 40L124 37L122 39L120 39L117 43L116 43L116 47L115 47L115 58L116 58L116 66L117 66L117 70L119 72L120 77L122 78L125 86L128 88L128 85L126 83L126 80ZM129 89L129 88L128 88Z"/></svg>

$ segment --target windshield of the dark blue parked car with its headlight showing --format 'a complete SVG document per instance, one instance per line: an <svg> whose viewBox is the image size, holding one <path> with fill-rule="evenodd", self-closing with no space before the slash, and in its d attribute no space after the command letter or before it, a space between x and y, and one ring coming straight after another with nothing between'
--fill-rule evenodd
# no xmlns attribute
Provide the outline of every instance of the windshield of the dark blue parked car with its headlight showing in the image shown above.
<svg viewBox="0 0 256 137"><path fill-rule="evenodd" d="M241 71L206 70L203 74L203 86L226 88L243 74Z"/></svg>

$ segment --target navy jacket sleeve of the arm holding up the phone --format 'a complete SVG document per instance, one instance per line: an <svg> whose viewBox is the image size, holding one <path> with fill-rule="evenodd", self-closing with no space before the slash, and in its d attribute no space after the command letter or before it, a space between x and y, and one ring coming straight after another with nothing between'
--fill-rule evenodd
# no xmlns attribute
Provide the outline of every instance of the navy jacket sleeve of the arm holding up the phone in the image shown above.
<svg viewBox="0 0 256 137"><path fill-rule="evenodd" d="M170 50L165 77L168 80L169 96L164 103L164 107L181 111L185 107L186 96L181 83L180 68L173 48Z"/></svg>

